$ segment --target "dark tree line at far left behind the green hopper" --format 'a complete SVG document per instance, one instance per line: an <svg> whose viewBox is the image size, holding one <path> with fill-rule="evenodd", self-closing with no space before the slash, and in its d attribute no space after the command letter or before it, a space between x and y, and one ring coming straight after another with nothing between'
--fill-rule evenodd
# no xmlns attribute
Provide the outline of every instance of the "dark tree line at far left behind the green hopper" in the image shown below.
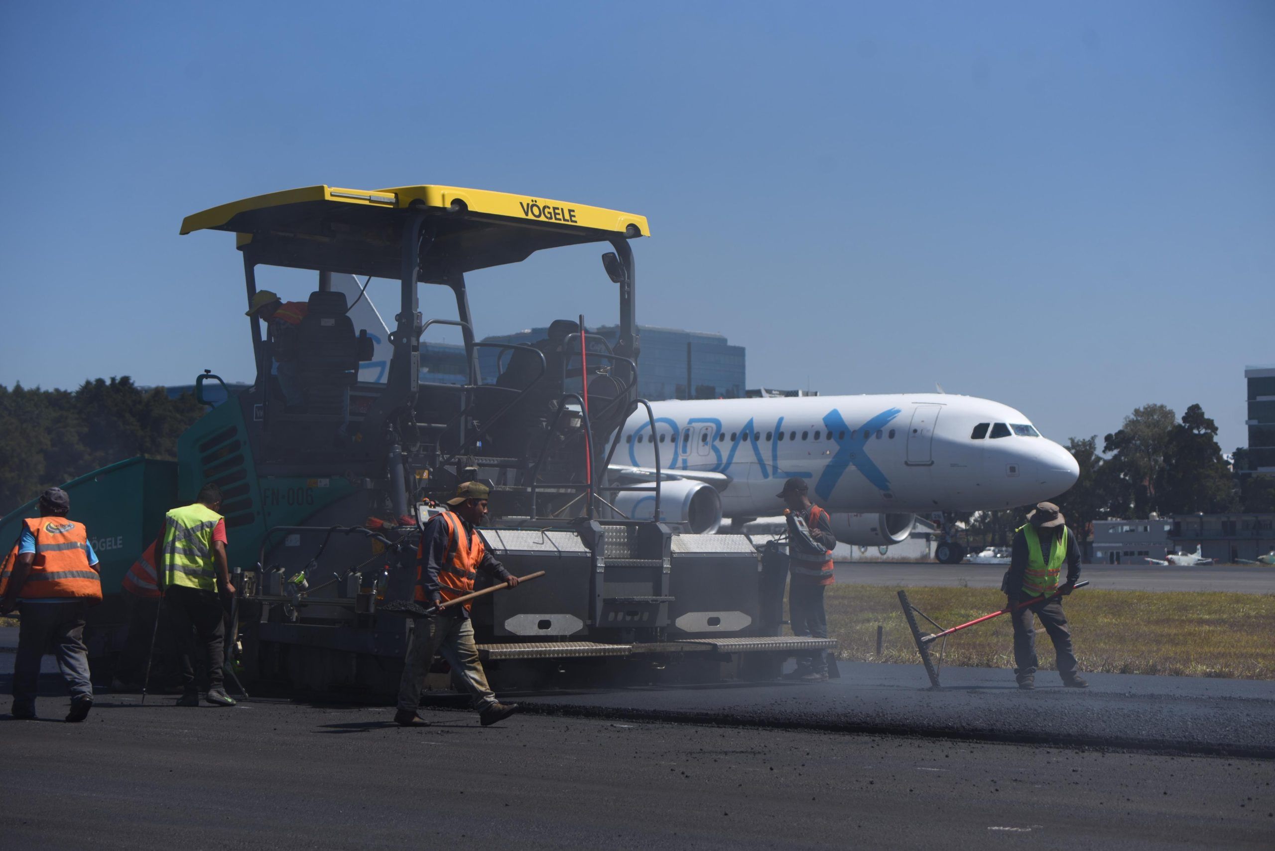
<svg viewBox="0 0 1275 851"><path fill-rule="evenodd" d="M76 390L0 385L0 515L125 458L176 458L177 436L203 412L190 393L168 398L126 375Z"/></svg>

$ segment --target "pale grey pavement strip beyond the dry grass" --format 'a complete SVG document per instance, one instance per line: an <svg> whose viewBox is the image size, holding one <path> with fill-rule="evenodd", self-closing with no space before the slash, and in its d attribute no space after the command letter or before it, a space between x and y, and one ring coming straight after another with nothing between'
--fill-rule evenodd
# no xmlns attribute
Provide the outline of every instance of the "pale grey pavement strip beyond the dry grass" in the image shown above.
<svg viewBox="0 0 1275 851"><path fill-rule="evenodd" d="M861 586L947 586L1000 588L1003 564L938 564L905 561L838 561L836 581ZM1154 564L1086 564L1081 575L1107 591L1229 591L1275 593L1275 568L1179 568Z"/></svg>

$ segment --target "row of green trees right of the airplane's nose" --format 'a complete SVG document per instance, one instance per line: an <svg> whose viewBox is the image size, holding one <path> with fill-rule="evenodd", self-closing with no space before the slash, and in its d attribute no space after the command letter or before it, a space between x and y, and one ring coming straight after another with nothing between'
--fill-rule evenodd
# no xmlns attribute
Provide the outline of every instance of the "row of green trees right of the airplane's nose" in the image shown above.
<svg viewBox="0 0 1275 851"><path fill-rule="evenodd" d="M1153 512L1160 517L1275 512L1275 476L1244 473L1244 449L1237 449L1234 464L1228 464L1218 445L1218 424L1198 404L1181 420L1163 404L1135 408L1100 445L1098 435L1067 440L1080 478L1051 500L1077 532L1108 517L1145 518ZM970 540L1007 546L1023 517L1021 509L982 512L969 521Z"/></svg>

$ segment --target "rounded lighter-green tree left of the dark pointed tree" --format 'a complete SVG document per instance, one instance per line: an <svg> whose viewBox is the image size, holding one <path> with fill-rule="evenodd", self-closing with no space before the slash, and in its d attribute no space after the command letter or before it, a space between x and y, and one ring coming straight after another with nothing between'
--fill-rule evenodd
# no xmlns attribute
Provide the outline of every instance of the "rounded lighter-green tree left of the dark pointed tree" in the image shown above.
<svg viewBox="0 0 1275 851"><path fill-rule="evenodd" d="M1163 404L1144 404L1125 417L1119 431L1103 440L1105 485L1119 512L1146 517L1156 510L1156 486L1164 473L1164 455L1177 425L1173 410Z"/></svg>

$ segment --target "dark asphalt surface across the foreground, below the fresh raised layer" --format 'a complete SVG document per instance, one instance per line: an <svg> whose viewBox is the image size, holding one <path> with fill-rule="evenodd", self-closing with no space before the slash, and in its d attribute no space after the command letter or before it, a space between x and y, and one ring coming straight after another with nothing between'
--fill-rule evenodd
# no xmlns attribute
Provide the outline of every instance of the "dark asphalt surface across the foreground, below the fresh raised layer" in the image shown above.
<svg viewBox="0 0 1275 851"><path fill-rule="evenodd" d="M42 698L50 714L65 698ZM0 717L0 848L1269 848L1275 762L101 695Z"/></svg>

